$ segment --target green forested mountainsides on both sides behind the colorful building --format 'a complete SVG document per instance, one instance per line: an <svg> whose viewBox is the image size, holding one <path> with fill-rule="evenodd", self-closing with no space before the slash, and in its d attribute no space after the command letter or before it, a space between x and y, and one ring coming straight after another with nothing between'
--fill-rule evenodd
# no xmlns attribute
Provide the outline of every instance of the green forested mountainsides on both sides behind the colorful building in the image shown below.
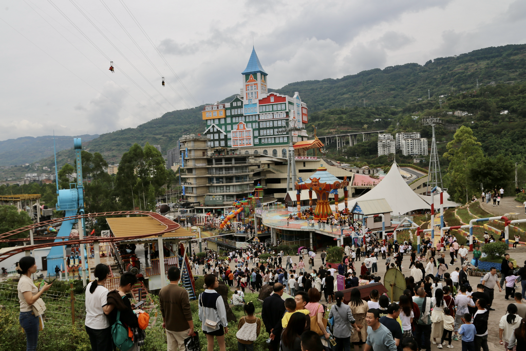
<svg viewBox="0 0 526 351"><path fill-rule="evenodd" d="M421 131L422 136L430 137L430 129L422 128L420 117L435 115L446 122L437 128L439 151L442 142L451 140L456 126L468 123L475 135L483 139L485 152L506 153L517 158L524 154L526 147L526 128L522 122L526 118L526 92L521 85L526 77L525 57L526 44L489 47L459 56L435 58L423 66L410 63L371 69L339 79L291 83L274 91L290 96L300 93L309 107L307 131L310 135L316 126L318 136L336 131L388 129L393 133ZM100 135L85 143L85 148L103 154L109 163L117 163L134 143L160 145L165 154L167 149L176 146L181 135L204 132L202 108L169 112L136 128ZM457 118L447 114L455 109L468 111L470 115ZM500 115L502 109L509 110L510 114ZM375 122L375 119L380 120ZM339 153L336 150L333 153L329 145L329 156L361 154L373 161L375 141L367 145L358 144ZM58 154L59 166L65 162L73 162L73 150ZM52 165L53 158L41 163Z"/></svg>

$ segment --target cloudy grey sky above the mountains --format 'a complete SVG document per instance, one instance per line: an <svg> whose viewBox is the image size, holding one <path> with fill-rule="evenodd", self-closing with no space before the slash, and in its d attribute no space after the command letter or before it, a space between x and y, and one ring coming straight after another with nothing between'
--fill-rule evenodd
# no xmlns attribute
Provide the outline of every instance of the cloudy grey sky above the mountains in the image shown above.
<svg viewBox="0 0 526 351"><path fill-rule="evenodd" d="M239 93L252 45L280 88L524 44L524 28L524 0L4 0L0 140L103 134L220 101Z"/></svg>

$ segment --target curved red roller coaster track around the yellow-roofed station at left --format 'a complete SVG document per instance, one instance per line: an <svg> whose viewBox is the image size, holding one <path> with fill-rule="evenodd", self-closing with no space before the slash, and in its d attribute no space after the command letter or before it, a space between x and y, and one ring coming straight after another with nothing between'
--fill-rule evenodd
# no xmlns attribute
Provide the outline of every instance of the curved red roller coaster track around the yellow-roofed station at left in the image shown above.
<svg viewBox="0 0 526 351"><path fill-rule="evenodd" d="M44 243L44 244L35 244L35 245L26 245L26 246L15 246L12 250L9 250L7 252L4 252L0 255L0 262L2 262L4 259L9 258L13 255L19 254L21 252L27 251L27 250L34 250L37 248L43 248L43 247L52 247L52 246L62 246L64 245L64 241L67 240L67 245L74 245L74 244L90 244L94 242L100 242L100 243L114 243L114 242L120 242L123 240L131 240L131 239L141 239L146 238L149 236L158 236L165 233L173 232L176 229L180 228L180 225L178 223L173 222L172 220L159 215L155 212L148 212L148 211L119 211L119 212L102 212L102 213L90 213L90 214L84 214L84 215L77 215L77 216L70 216L70 217L64 217L64 218L57 218L57 219L51 219L46 220L45 222L39 222L36 224L28 225L22 228L18 228L15 230L11 230L10 232L6 232L3 234L0 234L0 243L12 243L12 242L21 242L21 241L29 241L29 238L22 238L22 239L7 239L8 237L11 237L16 234L27 232L31 229L36 229L43 226L50 226L57 223L62 223L66 220L75 220L80 218L94 218L94 217L110 217L110 216L123 216L123 215L143 215L143 216L149 216L151 218L154 218L159 222L160 224L165 226L165 229L160 230L157 233L150 233L150 234L143 234L143 235L132 235L132 236L121 236L121 237L100 237L100 236L85 236L83 239L73 239L70 240L69 236L63 236L63 237L45 237L45 238L36 238L35 240L55 240L55 239L63 239L62 242L53 242L53 243Z"/></svg>

